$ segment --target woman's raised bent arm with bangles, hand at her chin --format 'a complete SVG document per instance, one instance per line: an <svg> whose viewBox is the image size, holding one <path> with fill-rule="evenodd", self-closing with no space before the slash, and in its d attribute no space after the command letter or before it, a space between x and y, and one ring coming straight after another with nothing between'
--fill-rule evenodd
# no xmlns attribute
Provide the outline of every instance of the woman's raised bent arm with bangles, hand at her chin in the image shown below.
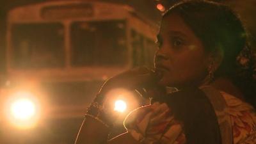
<svg viewBox="0 0 256 144"><path fill-rule="evenodd" d="M76 144L100 144L108 142L110 131L108 125L112 125L116 119L116 115L111 115L111 113L106 114L106 109L109 109L106 108L108 107L106 93L109 90L113 88L134 90L136 88L143 88L144 84L152 84L152 81L154 81L152 72L145 67L128 70L106 81L86 113L86 118L77 135ZM133 140L129 134L122 134L109 141L109 143L121 142L122 144L126 142L136 144L135 142L137 141Z"/></svg>

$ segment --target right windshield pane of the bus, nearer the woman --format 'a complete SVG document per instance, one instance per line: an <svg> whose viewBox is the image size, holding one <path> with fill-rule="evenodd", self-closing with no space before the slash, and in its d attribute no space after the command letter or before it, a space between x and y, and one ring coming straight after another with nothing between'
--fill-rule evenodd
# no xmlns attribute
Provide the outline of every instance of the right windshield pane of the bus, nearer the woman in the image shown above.
<svg viewBox="0 0 256 144"><path fill-rule="evenodd" d="M127 61L125 23L121 20L74 22L72 66L121 66Z"/></svg>

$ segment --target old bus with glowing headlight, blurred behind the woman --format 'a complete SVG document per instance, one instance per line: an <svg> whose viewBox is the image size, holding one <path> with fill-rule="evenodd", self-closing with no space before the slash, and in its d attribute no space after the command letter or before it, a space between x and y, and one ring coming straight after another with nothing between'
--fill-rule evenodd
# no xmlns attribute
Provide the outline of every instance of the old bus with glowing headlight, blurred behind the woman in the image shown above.
<svg viewBox="0 0 256 144"><path fill-rule="evenodd" d="M125 4L46 1L13 8L7 18L5 95L36 95L43 116L25 134L3 127L10 130L4 143L74 143L106 79L153 67L157 25Z"/></svg>

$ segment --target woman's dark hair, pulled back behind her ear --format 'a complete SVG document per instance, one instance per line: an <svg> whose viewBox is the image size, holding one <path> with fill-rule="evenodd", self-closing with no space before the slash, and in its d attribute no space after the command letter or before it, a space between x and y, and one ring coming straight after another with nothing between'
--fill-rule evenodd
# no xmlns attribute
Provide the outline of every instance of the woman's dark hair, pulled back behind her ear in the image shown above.
<svg viewBox="0 0 256 144"><path fill-rule="evenodd" d="M255 80L252 63L241 69L237 57L247 45L247 34L239 17L228 6L203 0L182 1L174 4L163 18L177 13L192 29L207 52L221 51L223 61L214 72L214 77L227 77L243 92L247 102L255 106ZM250 59L250 50L247 58ZM244 50L244 51L245 51ZM244 52L245 53L245 52ZM240 55L239 55L240 54ZM245 84L245 85L244 85Z"/></svg>

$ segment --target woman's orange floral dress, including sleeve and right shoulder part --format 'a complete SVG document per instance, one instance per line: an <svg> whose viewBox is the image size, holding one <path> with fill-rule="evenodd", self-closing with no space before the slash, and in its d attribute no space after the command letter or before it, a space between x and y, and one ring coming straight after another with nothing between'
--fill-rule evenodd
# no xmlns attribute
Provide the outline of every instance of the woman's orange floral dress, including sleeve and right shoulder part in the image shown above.
<svg viewBox="0 0 256 144"><path fill-rule="evenodd" d="M204 92L207 93L207 88L205 90ZM228 93L219 93L221 97L219 99L225 101L225 108L221 113L215 109L223 139L222 144L255 144L256 114L252 106ZM213 97L215 99L216 94ZM217 103L220 103L219 99L216 100ZM223 123L224 119L228 122ZM186 143L184 125L175 119L172 109L166 103L154 102L132 111L125 119L124 125L131 136L141 143Z"/></svg>

